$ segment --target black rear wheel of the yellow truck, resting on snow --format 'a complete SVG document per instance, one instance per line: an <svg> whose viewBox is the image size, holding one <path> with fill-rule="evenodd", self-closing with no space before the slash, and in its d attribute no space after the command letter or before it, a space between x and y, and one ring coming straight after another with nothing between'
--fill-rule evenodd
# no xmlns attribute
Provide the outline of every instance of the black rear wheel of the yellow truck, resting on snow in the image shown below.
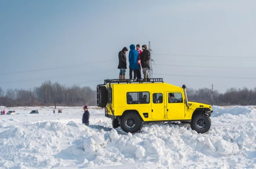
<svg viewBox="0 0 256 169"><path fill-rule="evenodd" d="M136 112L127 112L120 118L120 127L126 133L135 133L140 130L142 119Z"/></svg>

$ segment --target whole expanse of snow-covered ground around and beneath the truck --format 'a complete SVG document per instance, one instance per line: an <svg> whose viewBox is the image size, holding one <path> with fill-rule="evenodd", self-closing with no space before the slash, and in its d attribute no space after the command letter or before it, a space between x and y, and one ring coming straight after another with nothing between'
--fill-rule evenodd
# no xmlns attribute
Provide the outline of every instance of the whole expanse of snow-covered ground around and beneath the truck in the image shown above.
<svg viewBox="0 0 256 169"><path fill-rule="evenodd" d="M58 109L62 109L62 114ZM90 107L94 108L94 107ZM101 109L0 107L1 169L249 169L256 168L256 109L213 107L205 134L188 124L143 124L140 132L111 128ZM38 109L39 114L29 114ZM101 121L101 122L99 122Z"/></svg>

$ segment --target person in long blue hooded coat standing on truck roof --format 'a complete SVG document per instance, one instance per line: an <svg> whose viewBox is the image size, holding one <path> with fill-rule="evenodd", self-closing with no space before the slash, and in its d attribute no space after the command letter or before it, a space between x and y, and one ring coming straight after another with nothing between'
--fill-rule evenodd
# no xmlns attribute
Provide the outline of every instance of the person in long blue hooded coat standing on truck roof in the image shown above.
<svg viewBox="0 0 256 169"><path fill-rule="evenodd" d="M139 52L135 49L135 45L130 45L130 51L129 51L130 81L136 81L137 70L139 69L138 59L139 59ZM134 76L133 76L133 73L134 73Z"/></svg>

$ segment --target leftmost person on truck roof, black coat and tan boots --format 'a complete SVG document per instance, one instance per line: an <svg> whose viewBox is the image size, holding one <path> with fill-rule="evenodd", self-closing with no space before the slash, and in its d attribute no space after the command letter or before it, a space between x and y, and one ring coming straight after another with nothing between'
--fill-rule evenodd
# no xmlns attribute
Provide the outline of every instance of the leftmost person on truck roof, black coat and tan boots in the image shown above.
<svg viewBox="0 0 256 169"><path fill-rule="evenodd" d="M119 59L119 64L118 64L118 69L120 69L119 72L119 79L126 79L126 69L127 69L127 64L126 64L126 52L128 49L124 47L119 53L118 53L118 59Z"/></svg>

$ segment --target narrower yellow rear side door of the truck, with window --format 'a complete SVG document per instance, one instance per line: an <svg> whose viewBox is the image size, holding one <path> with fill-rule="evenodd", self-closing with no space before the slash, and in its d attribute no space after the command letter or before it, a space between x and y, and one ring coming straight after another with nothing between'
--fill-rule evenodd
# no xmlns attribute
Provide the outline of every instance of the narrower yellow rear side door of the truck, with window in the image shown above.
<svg viewBox="0 0 256 169"><path fill-rule="evenodd" d="M152 111L152 119L155 120L164 120L164 92L152 92L151 93L151 111Z"/></svg>

